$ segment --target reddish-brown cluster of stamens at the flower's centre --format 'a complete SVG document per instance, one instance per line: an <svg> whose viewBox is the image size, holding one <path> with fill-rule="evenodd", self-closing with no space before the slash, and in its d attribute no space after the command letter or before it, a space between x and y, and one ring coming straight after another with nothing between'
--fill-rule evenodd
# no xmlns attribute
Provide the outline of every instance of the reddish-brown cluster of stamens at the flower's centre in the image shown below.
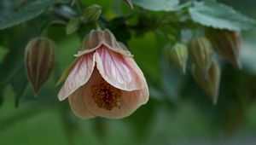
<svg viewBox="0 0 256 145"><path fill-rule="evenodd" d="M114 88L105 80L101 80L91 87L92 98L98 107L112 110L113 107L119 107L119 98L121 90Z"/></svg>

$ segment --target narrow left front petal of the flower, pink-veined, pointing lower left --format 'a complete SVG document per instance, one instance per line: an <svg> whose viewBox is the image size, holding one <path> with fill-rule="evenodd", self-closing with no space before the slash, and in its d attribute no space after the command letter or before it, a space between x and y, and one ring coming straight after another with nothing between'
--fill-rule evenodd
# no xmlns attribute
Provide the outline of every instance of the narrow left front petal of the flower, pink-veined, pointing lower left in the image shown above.
<svg viewBox="0 0 256 145"><path fill-rule="evenodd" d="M79 61L69 73L65 84L62 86L58 98L63 101L70 96L80 86L84 85L90 78L95 66L95 56L93 53L82 55Z"/></svg>

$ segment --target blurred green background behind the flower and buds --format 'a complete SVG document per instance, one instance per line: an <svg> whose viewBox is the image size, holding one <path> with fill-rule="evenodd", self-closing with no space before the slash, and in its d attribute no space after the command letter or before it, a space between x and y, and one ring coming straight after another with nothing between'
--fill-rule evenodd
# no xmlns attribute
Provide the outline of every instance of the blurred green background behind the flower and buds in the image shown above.
<svg viewBox="0 0 256 145"><path fill-rule="evenodd" d="M256 19L255 0L218 2L226 3ZM83 3L102 5L103 14L110 19L119 14L128 14L131 10L120 0L84 0ZM120 4L122 6L117 7ZM6 11L5 13L8 14ZM9 53L7 47L10 44L15 46L17 38L26 35L26 32L22 32L23 26L25 25L0 31L0 62ZM13 41L9 38L13 38ZM56 67L38 97L33 96L30 84L26 85L19 104L15 103L17 91L14 91L11 84L1 90L3 102L0 107L0 144L255 144L256 29L242 32L240 60L243 68L238 70L226 62L221 64L222 80L216 106L212 105L189 73L183 75L177 67L168 67L162 58L163 43L154 32L146 32L139 37L131 33L127 45L148 80L150 99L130 117L119 120L82 120L74 116L67 101L58 101L60 87L55 87L55 82L73 60L81 39L78 33L66 36L63 26L51 27L49 38L54 39L57 45ZM23 51L15 51L6 68L12 67L12 60L19 55L23 55ZM0 72L3 73L4 69L1 67ZM20 75L24 72L22 69L17 71L20 71ZM17 79L16 83L21 81Z"/></svg>

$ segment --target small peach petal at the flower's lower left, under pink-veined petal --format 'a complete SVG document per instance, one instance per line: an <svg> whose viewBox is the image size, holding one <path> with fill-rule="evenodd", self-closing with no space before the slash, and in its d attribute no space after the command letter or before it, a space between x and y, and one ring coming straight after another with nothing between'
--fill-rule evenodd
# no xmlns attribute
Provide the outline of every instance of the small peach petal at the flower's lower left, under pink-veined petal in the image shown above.
<svg viewBox="0 0 256 145"><path fill-rule="evenodd" d="M83 87L79 88L68 97L69 105L73 113L81 119L91 119L95 116L88 111L84 104Z"/></svg>

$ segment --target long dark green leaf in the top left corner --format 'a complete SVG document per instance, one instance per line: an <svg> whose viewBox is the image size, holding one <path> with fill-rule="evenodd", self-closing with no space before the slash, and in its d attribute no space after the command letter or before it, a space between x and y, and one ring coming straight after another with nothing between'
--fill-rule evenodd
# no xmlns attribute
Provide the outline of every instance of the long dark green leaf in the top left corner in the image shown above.
<svg viewBox="0 0 256 145"><path fill-rule="evenodd" d="M29 3L17 12L9 14L6 18L0 21L0 30L16 26L20 23L32 20L42 14L45 9L55 3L68 3L68 0L42 0Z"/></svg>

